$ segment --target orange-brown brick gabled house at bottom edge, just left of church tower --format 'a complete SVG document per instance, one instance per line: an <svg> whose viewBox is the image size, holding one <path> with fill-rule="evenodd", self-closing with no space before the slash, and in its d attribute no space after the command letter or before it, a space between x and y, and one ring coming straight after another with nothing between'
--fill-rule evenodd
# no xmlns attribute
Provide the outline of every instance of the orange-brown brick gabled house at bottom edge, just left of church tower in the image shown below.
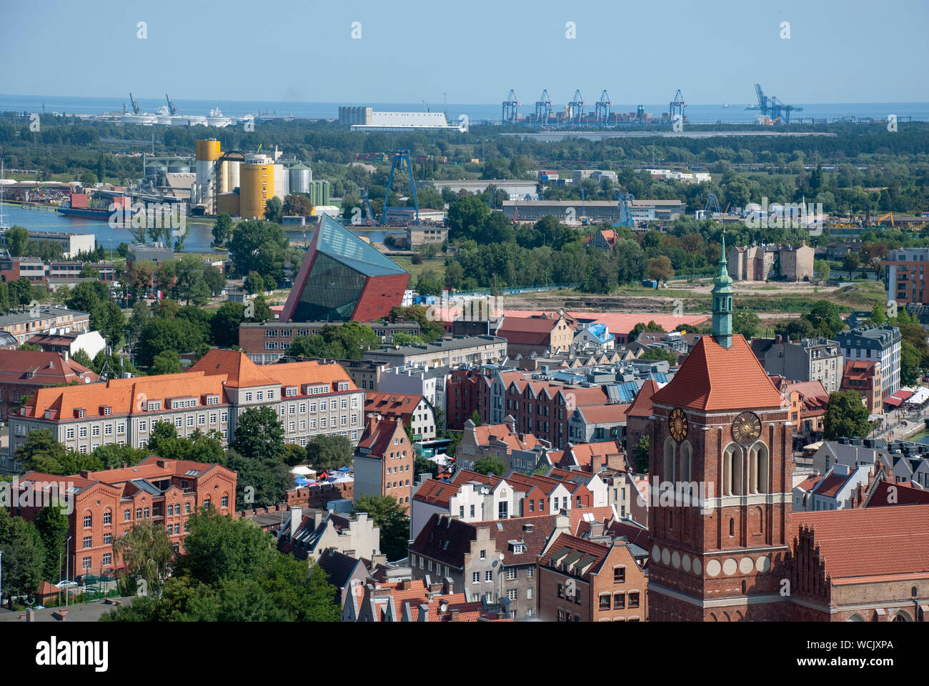
<svg viewBox="0 0 929 686"><path fill-rule="evenodd" d="M648 577L622 541L560 534L539 559L539 616L548 622L642 622Z"/></svg>

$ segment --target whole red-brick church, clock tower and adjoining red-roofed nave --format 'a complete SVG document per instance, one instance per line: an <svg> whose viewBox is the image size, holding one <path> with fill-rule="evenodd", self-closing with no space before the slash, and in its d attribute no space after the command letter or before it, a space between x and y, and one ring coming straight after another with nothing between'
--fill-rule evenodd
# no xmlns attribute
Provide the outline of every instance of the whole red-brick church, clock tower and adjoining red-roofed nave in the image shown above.
<svg viewBox="0 0 929 686"><path fill-rule="evenodd" d="M732 312L724 236L713 336L651 399L649 620L922 621L929 506L792 513L790 405Z"/></svg>

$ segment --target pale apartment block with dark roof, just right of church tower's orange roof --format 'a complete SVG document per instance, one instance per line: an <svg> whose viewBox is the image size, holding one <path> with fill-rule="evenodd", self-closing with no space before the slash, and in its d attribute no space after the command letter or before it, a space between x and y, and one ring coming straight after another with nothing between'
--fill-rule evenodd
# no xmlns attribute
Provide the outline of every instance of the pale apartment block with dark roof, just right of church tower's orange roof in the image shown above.
<svg viewBox="0 0 929 686"><path fill-rule="evenodd" d="M827 393L842 387L845 356L837 341L754 338L752 352L769 375L783 376L788 381L819 381Z"/></svg>

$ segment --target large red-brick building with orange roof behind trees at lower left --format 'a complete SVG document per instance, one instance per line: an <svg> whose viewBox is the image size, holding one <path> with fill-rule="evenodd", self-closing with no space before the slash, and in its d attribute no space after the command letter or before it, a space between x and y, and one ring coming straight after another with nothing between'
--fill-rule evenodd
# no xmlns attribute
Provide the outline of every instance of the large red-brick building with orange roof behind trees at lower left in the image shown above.
<svg viewBox="0 0 929 686"><path fill-rule="evenodd" d="M68 547L72 576L100 574L121 566L112 541L142 521L169 530L176 551L183 551L190 514L204 506L220 514L235 511L236 472L222 465L168 460L150 455L134 467L82 471L72 476L31 471L20 478L22 507L13 513L34 521L46 502L37 494L60 494L70 506ZM26 495L32 495L26 506ZM65 561L62 561L62 569Z"/></svg>

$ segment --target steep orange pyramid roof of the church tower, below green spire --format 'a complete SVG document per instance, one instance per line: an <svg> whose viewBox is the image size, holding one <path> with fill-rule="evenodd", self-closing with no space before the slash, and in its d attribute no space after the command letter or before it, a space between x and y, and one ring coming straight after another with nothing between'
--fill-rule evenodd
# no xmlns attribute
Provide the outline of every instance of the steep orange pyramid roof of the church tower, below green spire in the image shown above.
<svg viewBox="0 0 929 686"><path fill-rule="evenodd" d="M734 335L729 350L713 336L702 336L652 402L712 411L779 407L783 398L745 338Z"/></svg>

